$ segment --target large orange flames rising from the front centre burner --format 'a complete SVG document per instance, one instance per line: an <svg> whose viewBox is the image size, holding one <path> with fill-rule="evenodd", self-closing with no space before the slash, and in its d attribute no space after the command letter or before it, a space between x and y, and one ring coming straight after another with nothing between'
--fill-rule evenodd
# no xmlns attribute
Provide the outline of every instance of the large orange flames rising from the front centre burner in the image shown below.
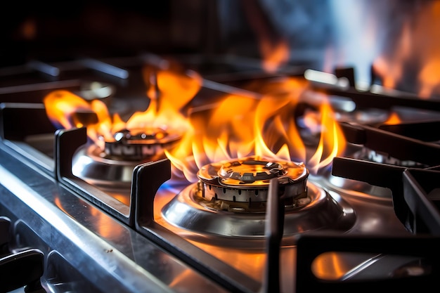
<svg viewBox="0 0 440 293"><path fill-rule="evenodd" d="M174 174L182 172L188 181L195 182L198 169L205 164L250 155L294 162L308 160L306 166L312 172L328 166L345 146L330 105L323 103L316 115L321 139L315 154L309 157L294 115L306 87L304 81L295 79L287 79L286 84L295 86L261 98L231 94L212 109L195 110L190 115L191 131L179 146L165 150L175 167Z"/></svg>

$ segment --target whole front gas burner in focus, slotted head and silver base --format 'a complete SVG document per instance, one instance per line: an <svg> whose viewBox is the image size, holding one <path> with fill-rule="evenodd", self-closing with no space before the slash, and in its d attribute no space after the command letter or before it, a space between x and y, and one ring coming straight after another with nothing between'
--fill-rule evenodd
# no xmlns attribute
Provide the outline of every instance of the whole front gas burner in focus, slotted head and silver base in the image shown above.
<svg viewBox="0 0 440 293"><path fill-rule="evenodd" d="M172 226L184 229L188 237L192 231L193 237L202 234L261 240L269 181L278 178L278 194L285 199L285 236L351 227L355 216L349 204L308 182L308 176L302 163L271 162L260 157L207 164L198 172L197 183L164 205L162 216Z"/></svg>

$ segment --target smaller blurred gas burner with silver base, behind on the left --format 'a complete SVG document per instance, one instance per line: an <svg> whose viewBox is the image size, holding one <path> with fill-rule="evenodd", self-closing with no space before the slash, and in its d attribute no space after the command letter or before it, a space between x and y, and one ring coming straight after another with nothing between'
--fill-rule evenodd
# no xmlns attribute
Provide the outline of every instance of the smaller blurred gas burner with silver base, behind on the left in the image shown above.
<svg viewBox="0 0 440 293"><path fill-rule="evenodd" d="M133 169L138 164L164 158L164 150L179 141L177 131L160 128L124 129L115 133L115 141L84 145L72 159L72 174L103 188L129 188Z"/></svg>

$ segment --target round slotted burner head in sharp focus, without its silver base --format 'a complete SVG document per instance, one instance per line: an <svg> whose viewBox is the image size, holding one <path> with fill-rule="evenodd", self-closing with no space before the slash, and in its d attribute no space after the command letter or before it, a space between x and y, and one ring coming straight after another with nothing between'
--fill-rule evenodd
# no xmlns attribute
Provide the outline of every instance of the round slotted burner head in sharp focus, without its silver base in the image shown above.
<svg viewBox="0 0 440 293"><path fill-rule="evenodd" d="M271 178L278 178L280 196L297 200L307 196L306 179L309 171L304 164L271 162L257 156L207 164L198 171L201 196L207 201L221 201L247 209L252 204L265 206ZM245 203L239 207L238 203Z"/></svg>

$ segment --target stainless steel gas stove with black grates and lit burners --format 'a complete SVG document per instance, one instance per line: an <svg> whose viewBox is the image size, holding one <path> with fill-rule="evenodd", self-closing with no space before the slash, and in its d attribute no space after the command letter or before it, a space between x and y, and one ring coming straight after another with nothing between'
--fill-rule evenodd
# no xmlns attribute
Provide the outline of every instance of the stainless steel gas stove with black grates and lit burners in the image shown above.
<svg viewBox="0 0 440 293"><path fill-rule="evenodd" d="M438 103L360 91L351 70L337 70L351 82L324 84L304 67L210 60L235 69L142 53L4 71L2 266L35 268L4 291L434 284L440 147L420 129L438 124ZM313 116L329 109L329 121Z"/></svg>

